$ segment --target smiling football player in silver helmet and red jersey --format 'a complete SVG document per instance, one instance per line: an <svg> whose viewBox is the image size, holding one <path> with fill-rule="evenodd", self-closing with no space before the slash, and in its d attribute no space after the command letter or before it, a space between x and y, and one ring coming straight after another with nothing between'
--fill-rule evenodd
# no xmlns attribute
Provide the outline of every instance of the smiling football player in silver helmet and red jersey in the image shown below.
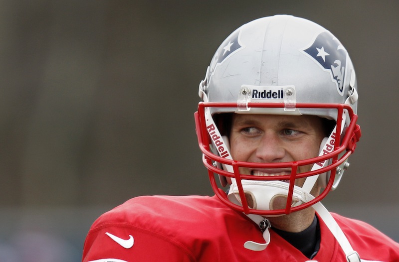
<svg viewBox="0 0 399 262"><path fill-rule="evenodd" d="M91 227L83 262L399 261L399 244L320 203L361 136L342 44L303 18L235 30L195 114L213 197L143 196Z"/></svg>

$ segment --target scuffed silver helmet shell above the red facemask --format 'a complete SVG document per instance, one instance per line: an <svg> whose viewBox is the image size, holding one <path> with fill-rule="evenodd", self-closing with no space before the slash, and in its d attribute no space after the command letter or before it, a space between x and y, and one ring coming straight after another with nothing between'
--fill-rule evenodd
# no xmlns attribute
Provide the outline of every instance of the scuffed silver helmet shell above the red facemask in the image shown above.
<svg viewBox="0 0 399 262"><path fill-rule="evenodd" d="M352 61L339 40L322 26L290 15L259 18L231 33L217 49L202 83L200 92L208 102L237 102L247 86L248 102L282 102L289 90L295 92L294 103L343 104L357 89ZM351 106L356 114L357 102ZM253 111L246 113L257 113ZM335 119L335 112L328 111L291 114Z"/></svg>

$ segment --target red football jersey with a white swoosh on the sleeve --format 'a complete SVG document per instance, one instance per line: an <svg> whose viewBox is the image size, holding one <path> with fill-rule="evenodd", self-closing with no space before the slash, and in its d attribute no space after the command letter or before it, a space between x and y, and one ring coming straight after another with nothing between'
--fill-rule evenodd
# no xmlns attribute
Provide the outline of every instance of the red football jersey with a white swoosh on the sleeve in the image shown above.
<svg viewBox="0 0 399 262"><path fill-rule="evenodd" d="M373 228L333 214L362 262L399 261L399 244ZM100 216L90 228L83 262L346 262L326 224L320 223L320 249L313 259L270 230L264 251L245 249L264 243L258 225L216 196L142 196Z"/></svg>

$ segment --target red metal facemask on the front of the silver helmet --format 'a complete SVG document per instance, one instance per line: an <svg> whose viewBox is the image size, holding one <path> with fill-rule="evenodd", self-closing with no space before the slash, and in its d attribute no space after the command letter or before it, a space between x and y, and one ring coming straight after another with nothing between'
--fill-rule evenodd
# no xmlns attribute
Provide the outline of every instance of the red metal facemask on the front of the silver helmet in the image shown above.
<svg viewBox="0 0 399 262"><path fill-rule="evenodd" d="M320 201L324 198L327 193L330 191L334 177L335 177L335 170L336 168L344 163L346 159L352 154L356 147L356 142L359 140L360 137L360 128L356 125L357 116L353 114L352 109L348 105L342 104L297 104L297 108L325 108L325 109L336 109L338 112L338 119L344 118L345 114L348 114L349 119L351 120L349 126L347 127L346 134L341 140L340 135L336 136L336 142L334 144L334 149L332 152L327 153L325 155L321 155L312 159L305 159L296 162L288 162L288 163L272 163L272 164L260 164L260 163L246 163L240 161L234 161L231 159L231 155L228 151L224 153L223 157L220 155L216 155L211 152L209 144L213 143L217 148L217 151L220 153L224 152L227 149L225 141L222 140L222 136L219 131L216 131L217 128L210 117L210 108L211 107L218 107L218 108L230 108L232 112L234 112L234 108L237 106L236 103L206 103L201 102L199 104L199 110L196 112L196 127L197 127L197 135L200 144L200 150L203 153L203 163L205 167L208 169L208 174L211 182L211 186L215 194L228 206L232 207L233 209L242 211L246 214L259 214L259 215L278 215L278 214L289 214L293 211L297 211L300 209L304 209L313 205L314 203ZM284 107L284 104L276 104L276 103L248 103L250 107ZM206 112L206 113L205 113ZM344 114L344 112L347 112ZM339 121L337 123L337 130L342 130L345 121ZM213 127L214 129L213 129ZM209 132L210 130L210 132ZM214 131L214 133L212 133ZM212 135L214 135L212 137ZM219 138L220 137L220 138ZM225 148L224 148L225 147ZM339 157L339 154L342 156ZM308 165L320 162L327 162L328 159L332 159L332 163L328 166L323 166L318 168L317 170L311 170L310 172L297 174L296 169L300 165ZM223 169L215 167L213 164L214 162L221 163L223 165ZM290 167L291 168L291 175L281 176L281 177L268 177L268 176L250 176L250 175L242 175L239 174L238 168L239 167L254 167L254 168L281 168L281 167ZM320 196L316 197L314 200L311 200L307 203L303 203L299 206L291 207L290 203L292 201L292 195L294 192L294 182L295 179L301 177L311 177L316 176L320 173L331 171L331 178L328 181L326 189L320 194ZM240 199L242 202L242 206L237 204L231 203L226 197L226 194L218 188L217 183L215 181L214 174L220 174L225 177L233 178L236 180ZM288 198L287 198L287 206L285 210L255 210L250 209L248 204L246 203L245 194L242 188L241 180L290 180L290 188L288 190ZM311 182L309 182L311 183ZM306 190L307 191L307 190Z"/></svg>

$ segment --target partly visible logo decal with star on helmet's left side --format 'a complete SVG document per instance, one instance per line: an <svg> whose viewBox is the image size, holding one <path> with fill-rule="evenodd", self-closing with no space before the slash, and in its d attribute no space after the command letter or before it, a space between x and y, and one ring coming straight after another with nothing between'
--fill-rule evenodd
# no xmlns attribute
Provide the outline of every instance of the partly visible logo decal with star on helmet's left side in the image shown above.
<svg viewBox="0 0 399 262"><path fill-rule="evenodd" d="M238 40L239 33L240 30L233 32L229 37L227 37L227 39L224 40L219 49L217 49L210 64L210 72L213 72L215 67L223 63L228 56L243 47Z"/></svg>

